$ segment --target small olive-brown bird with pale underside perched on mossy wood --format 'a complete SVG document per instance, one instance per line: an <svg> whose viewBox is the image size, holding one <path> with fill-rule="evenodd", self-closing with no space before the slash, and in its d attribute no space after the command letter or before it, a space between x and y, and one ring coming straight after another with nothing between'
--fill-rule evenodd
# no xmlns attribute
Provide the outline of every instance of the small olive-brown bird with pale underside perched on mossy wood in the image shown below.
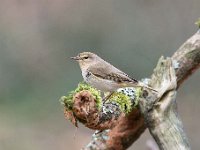
<svg viewBox="0 0 200 150"><path fill-rule="evenodd" d="M157 92L114 67L95 53L81 52L77 56L71 57L71 59L78 61L86 83L102 92L110 92L107 98L117 89L123 87L144 87Z"/></svg>

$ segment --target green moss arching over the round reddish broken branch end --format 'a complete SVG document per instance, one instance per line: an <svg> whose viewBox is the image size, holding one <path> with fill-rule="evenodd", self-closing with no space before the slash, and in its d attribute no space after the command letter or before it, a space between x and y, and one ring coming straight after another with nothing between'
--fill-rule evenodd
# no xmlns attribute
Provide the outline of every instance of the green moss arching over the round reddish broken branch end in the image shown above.
<svg viewBox="0 0 200 150"><path fill-rule="evenodd" d="M72 110L74 95L83 90L88 90L91 92L91 94L94 96L94 99L96 100L97 108L100 110L102 107L102 98L100 96L100 91L84 82L79 83L78 87L75 90L69 92L67 96L62 96L60 98L61 104L65 105L69 110Z"/></svg>

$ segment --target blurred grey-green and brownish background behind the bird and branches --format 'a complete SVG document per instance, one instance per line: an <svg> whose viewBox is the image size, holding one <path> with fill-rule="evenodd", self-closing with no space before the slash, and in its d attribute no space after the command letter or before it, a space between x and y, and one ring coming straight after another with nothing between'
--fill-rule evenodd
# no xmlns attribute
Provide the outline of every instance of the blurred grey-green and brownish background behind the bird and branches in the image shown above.
<svg viewBox="0 0 200 150"><path fill-rule="evenodd" d="M0 0L0 149L67 150L93 131L64 119L59 98L82 81L69 59L92 51L137 79L197 31L199 0ZM199 149L200 72L177 100ZM148 149L148 131L129 149Z"/></svg>

